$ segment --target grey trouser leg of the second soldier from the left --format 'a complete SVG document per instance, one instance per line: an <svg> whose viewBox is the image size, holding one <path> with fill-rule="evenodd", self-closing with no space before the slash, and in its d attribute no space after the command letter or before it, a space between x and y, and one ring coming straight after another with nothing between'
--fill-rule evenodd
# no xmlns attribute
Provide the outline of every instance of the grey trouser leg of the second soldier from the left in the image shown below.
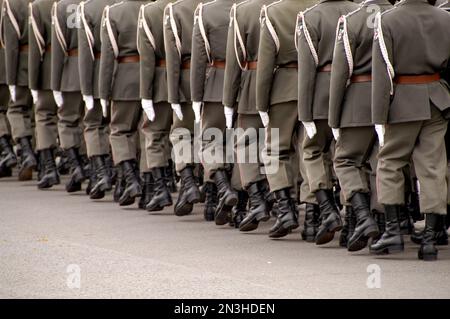
<svg viewBox="0 0 450 319"><path fill-rule="evenodd" d="M58 107L50 90L38 91L35 105L37 150L57 147Z"/></svg>

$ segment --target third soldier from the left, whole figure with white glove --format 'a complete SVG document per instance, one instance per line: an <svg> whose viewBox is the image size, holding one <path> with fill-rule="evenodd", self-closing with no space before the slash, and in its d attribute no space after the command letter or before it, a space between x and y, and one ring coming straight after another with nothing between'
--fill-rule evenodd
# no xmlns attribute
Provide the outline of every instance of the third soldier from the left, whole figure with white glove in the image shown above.
<svg viewBox="0 0 450 319"><path fill-rule="evenodd" d="M66 191L81 190L86 179L80 156L80 118L83 101L78 72L78 31L76 8L81 0L61 0L52 7L51 88L58 106L58 132L61 148L71 166Z"/></svg>

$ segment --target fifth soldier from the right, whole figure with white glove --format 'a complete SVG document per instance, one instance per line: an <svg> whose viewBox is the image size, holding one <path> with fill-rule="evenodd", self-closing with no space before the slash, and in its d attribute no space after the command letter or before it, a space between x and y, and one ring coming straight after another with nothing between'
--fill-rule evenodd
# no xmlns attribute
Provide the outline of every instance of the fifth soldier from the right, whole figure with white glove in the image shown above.
<svg viewBox="0 0 450 319"><path fill-rule="evenodd" d="M246 144L246 134L239 137L238 151L257 149L258 141L264 136L259 130L264 128L256 109L256 69L260 36L259 16L261 7L272 0L248 0L235 4L230 12L228 29L226 67L223 88L224 114L228 123L232 122L237 101L237 128L256 130ZM244 153L246 154L246 153ZM249 213L241 222L241 231L252 231L260 222L270 218L270 203L267 201L268 182L263 172L264 165L258 156L256 163L238 163L242 186L249 194Z"/></svg>

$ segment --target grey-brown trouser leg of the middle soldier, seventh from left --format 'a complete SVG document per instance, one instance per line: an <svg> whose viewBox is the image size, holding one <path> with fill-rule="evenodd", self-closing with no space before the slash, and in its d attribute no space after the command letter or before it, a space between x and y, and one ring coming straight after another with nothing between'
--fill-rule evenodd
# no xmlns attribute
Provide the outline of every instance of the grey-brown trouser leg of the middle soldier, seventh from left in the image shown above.
<svg viewBox="0 0 450 319"><path fill-rule="evenodd" d="M182 103L183 120L173 112L173 125L170 141L175 154L175 166L180 173L186 166L194 164L194 120L195 115L191 103Z"/></svg>

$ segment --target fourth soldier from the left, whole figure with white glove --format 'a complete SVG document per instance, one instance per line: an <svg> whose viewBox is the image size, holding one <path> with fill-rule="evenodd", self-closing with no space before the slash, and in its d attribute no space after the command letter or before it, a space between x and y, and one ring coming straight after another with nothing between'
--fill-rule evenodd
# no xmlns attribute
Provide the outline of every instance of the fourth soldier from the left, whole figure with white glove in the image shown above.
<svg viewBox="0 0 450 319"><path fill-rule="evenodd" d="M91 165L90 198L99 199L112 189L111 172L107 166L109 154L108 123L103 117L98 92L98 75L100 68L100 29L103 10L116 0L88 0L81 2L79 15L81 19L78 29L78 52L80 85L86 105L84 116L84 138L87 155Z"/></svg>

